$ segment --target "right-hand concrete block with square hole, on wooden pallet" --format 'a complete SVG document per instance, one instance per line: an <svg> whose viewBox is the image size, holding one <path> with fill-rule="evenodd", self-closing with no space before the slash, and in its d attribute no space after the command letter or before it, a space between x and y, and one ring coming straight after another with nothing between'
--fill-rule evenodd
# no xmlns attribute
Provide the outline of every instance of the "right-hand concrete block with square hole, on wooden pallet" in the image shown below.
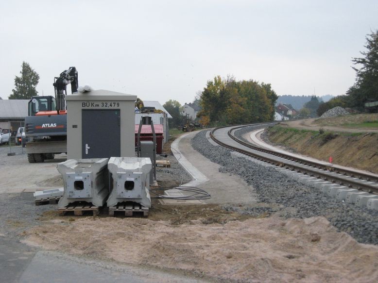
<svg viewBox="0 0 378 283"><path fill-rule="evenodd" d="M108 163L110 195L107 206L132 201L151 207L150 172L152 163L146 157L111 157ZM152 174L152 173L151 173Z"/></svg>

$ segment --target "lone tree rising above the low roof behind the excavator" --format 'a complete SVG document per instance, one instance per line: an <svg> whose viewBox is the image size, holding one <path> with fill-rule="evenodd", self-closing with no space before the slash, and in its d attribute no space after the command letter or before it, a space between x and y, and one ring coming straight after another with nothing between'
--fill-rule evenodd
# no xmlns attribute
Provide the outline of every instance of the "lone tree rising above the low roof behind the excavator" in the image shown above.
<svg viewBox="0 0 378 283"><path fill-rule="evenodd" d="M22 62L22 70L20 71L21 77L15 78L15 89L12 89L13 94L9 99L31 99L33 96L38 95L35 86L39 82L39 75L30 65Z"/></svg>

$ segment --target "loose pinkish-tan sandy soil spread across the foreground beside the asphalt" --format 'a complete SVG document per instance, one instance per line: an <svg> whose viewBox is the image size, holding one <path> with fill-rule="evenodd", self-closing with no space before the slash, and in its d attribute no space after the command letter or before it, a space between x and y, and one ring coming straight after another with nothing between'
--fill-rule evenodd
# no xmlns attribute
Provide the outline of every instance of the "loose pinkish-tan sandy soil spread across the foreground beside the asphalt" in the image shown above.
<svg viewBox="0 0 378 283"><path fill-rule="evenodd" d="M206 210L206 209L205 209ZM182 270L226 282L377 282L378 247L323 217L203 220L54 218L25 233L45 249Z"/></svg>

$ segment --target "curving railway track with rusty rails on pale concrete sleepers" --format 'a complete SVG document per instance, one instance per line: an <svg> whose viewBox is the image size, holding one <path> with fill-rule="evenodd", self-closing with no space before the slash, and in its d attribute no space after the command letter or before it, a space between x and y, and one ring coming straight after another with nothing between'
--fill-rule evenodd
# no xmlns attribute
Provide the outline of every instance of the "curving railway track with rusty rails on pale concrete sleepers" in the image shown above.
<svg viewBox="0 0 378 283"><path fill-rule="evenodd" d="M243 127L265 127L269 124L270 123L262 123L215 128L211 131L210 137L225 148L243 153L275 166L284 167L311 177L378 195L378 175L329 166L305 158L298 158L274 150L264 149L257 145L244 142L234 134L236 130Z"/></svg>

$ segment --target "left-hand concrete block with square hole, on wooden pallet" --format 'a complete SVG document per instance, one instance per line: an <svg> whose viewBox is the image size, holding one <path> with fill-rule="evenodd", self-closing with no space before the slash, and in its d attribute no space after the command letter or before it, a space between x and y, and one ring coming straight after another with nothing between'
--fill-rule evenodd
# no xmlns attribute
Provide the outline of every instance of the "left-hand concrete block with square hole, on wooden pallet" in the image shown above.
<svg viewBox="0 0 378 283"><path fill-rule="evenodd" d="M69 159L57 165L64 183L63 197L58 206L74 201L103 206L109 195L108 158Z"/></svg>

